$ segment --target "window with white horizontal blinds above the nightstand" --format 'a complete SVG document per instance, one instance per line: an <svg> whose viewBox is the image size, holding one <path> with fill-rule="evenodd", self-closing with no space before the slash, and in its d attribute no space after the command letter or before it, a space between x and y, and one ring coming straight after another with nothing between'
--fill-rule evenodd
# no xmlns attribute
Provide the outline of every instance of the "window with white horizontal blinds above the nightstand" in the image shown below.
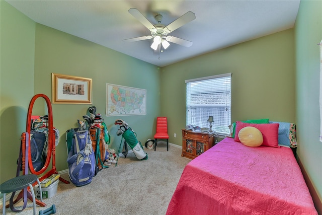
<svg viewBox="0 0 322 215"><path fill-rule="evenodd" d="M187 124L208 127L213 116L212 130L228 134L231 123L231 73L186 80Z"/></svg>

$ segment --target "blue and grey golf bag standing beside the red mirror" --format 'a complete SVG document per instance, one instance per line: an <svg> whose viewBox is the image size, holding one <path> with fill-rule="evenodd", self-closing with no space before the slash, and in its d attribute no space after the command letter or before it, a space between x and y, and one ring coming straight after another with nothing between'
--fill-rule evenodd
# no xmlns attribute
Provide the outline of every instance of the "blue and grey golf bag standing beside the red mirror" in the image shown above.
<svg viewBox="0 0 322 215"><path fill-rule="evenodd" d="M74 132L67 163L68 175L74 185L79 187L92 182L92 178L95 175L96 162L92 141L87 130Z"/></svg>

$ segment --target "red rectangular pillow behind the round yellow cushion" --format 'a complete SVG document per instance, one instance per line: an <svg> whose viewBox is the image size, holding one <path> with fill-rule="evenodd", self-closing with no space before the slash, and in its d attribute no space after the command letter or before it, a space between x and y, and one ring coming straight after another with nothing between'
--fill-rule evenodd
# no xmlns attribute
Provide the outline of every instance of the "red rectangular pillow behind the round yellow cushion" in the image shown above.
<svg viewBox="0 0 322 215"><path fill-rule="evenodd" d="M278 123L253 124L236 121L236 135L234 137L235 141L240 142L238 137L239 130L247 126L256 127L261 131L263 134L262 146L278 147Z"/></svg>

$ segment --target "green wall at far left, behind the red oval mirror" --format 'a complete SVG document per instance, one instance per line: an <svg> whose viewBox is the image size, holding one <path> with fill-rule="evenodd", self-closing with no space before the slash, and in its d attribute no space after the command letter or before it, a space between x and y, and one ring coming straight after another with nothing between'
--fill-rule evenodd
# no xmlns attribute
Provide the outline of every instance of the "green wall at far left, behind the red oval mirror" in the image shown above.
<svg viewBox="0 0 322 215"><path fill-rule="evenodd" d="M34 94L35 22L0 1L0 172L1 182L16 176L20 137L26 130Z"/></svg>

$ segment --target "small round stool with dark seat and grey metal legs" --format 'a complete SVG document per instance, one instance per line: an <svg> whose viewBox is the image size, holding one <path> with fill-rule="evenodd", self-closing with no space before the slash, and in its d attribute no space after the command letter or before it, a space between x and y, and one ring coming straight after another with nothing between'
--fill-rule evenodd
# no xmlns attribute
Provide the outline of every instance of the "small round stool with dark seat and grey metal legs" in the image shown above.
<svg viewBox="0 0 322 215"><path fill-rule="evenodd" d="M34 203L34 215L36 215L36 199L35 199L35 192L32 187L32 184L38 182L39 192L40 192L40 200L42 201L42 191L41 185L37 175L29 174L29 175L21 175L16 178L9 179L8 181L2 183L0 185L0 191L4 194L3 199L3 214L6 214L6 193L15 192L17 190L22 190L26 187L30 187L30 191L32 193L32 201ZM28 199L27 199L28 200Z"/></svg>

